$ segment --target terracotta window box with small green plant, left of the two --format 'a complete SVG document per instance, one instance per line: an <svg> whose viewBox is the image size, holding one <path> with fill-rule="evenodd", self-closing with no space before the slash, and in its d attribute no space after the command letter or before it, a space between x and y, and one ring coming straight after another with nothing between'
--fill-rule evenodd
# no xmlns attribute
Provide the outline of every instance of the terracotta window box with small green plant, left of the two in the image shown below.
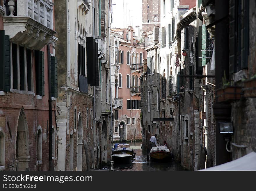
<svg viewBox="0 0 256 191"><path fill-rule="evenodd" d="M218 102L234 101L241 98L242 87L234 86L230 82L227 82L225 71L222 82L222 88L216 90Z"/></svg>

